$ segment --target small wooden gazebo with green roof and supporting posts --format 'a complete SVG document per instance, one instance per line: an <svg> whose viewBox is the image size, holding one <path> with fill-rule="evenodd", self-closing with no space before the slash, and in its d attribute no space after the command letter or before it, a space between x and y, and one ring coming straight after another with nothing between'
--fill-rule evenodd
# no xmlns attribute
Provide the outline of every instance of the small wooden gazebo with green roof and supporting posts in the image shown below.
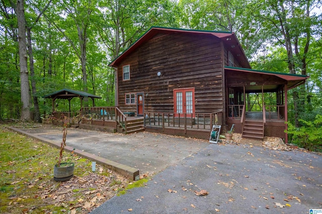
<svg viewBox="0 0 322 214"><path fill-rule="evenodd" d="M81 100L81 108L83 107L83 99L84 97L91 98L93 100L93 107L95 106L94 98L102 99L102 97L96 96L94 94L90 94L83 91L75 91L71 89L61 89L59 91L55 91L51 94L43 96L43 98L51 98L52 99L52 111L55 110L55 100L56 99L67 99L69 103L69 112L70 112L70 100L74 97L79 97Z"/></svg>

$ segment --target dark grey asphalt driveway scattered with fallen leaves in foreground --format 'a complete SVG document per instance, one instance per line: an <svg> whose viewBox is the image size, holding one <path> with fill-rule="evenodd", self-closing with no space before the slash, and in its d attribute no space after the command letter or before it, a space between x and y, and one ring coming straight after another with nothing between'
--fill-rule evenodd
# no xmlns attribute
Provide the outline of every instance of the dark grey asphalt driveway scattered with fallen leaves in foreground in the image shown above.
<svg viewBox="0 0 322 214"><path fill-rule="evenodd" d="M209 144L91 213L309 213L321 174L317 154Z"/></svg>

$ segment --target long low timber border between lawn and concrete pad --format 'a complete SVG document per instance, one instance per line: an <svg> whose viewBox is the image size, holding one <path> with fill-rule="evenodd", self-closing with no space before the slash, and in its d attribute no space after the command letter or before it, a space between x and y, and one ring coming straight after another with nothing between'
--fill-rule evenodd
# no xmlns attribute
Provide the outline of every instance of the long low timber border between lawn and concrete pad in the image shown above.
<svg viewBox="0 0 322 214"><path fill-rule="evenodd" d="M46 144L49 144L53 147L57 147L57 148L60 148L60 143L57 143L53 140L48 140L44 137L40 137L38 136L37 134L31 134L29 132L26 132L26 131L23 131L21 129L18 129L18 128L15 128L15 127L8 127L8 129L12 130L12 131L16 131L22 135L25 135L25 136L28 136L28 137L31 137L33 139L36 139L36 140L39 140L43 143L46 143ZM65 146L65 150L66 151L72 151L73 148L71 146ZM79 150L79 149L75 149L74 150L74 153L79 155L79 156L82 156L82 157L85 157L85 158L88 158L92 161L96 161L97 163L101 164L101 165L104 165L106 166L107 168L115 171L115 172L118 172L122 175L124 175L125 177L131 179L131 180L139 180L139 170L136 169L136 168L133 168L131 166L127 166L127 165L124 165L124 164L120 164L120 163L117 163L115 161L112 161L112 160L109 160L109 159L106 159L106 158L103 158L103 157L99 157L99 156L96 156L94 154L90 154L89 152L86 152L86 151L82 151L82 150Z"/></svg>

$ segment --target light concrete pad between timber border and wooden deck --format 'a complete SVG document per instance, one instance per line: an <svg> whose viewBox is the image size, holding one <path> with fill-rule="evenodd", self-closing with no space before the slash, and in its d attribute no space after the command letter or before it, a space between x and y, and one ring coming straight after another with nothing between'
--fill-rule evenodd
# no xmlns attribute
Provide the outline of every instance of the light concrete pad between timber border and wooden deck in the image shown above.
<svg viewBox="0 0 322 214"><path fill-rule="evenodd" d="M20 129L47 141L61 142L61 127L45 124L37 128ZM107 164L114 161L138 169L141 174L152 175L198 152L209 143L206 140L150 132L124 135L68 128L66 145L91 154L90 158L103 157L107 159Z"/></svg>

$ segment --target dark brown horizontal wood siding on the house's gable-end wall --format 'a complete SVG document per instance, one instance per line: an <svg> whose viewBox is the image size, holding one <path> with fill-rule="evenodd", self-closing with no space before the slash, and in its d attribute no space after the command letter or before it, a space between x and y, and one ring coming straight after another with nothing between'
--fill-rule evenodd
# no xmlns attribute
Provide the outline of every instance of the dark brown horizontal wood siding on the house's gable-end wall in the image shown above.
<svg viewBox="0 0 322 214"><path fill-rule="evenodd" d="M125 105L125 93L144 92L144 111L174 112L173 90L195 88L195 112L222 111L220 43L209 35L172 33L142 44L118 66L121 110L136 111L136 105ZM130 65L128 81L124 65Z"/></svg>

